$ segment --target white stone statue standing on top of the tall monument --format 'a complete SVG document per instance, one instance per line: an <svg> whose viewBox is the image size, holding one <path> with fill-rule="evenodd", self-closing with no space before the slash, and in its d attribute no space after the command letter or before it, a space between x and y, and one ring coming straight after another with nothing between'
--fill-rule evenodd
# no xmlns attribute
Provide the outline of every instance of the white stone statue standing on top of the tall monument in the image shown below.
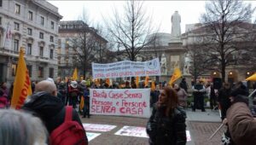
<svg viewBox="0 0 256 145"><path fill-rule="evenodd" d="M172 14L172 32L171 35L173 37L179 38L181 36L181 28L180 28L180 22L181 22L181 17L180 14L175 11L174 14Z"/></svg>

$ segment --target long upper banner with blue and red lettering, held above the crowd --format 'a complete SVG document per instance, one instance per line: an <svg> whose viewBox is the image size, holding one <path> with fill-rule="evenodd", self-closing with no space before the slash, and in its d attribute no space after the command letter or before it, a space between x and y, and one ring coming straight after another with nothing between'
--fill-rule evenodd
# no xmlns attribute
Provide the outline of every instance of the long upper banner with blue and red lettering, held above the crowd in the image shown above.
<svg viewBox="0 0 256 145"><path fill-rule="evenodd" d="M160 61L119 61L108 64L91 63L92 77L95 78L123 78L135 76L160 76Z"/></svg>

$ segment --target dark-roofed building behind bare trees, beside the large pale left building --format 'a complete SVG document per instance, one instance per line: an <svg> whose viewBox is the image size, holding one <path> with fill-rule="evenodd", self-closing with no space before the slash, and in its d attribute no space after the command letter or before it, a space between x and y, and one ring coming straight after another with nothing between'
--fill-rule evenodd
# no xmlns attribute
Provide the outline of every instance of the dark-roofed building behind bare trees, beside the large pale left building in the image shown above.
<svg viewBox="0 0 256 145"><path fill-rule="evenodd" d="M84 35L85 38L84 38ZM74 48L74 40L83 41L87 45L87 49ZM108 51L108 41L102 38L97 33L97 30L93 27L88 26L82 20L68 20L61 21L59 26L59 40L58 40L58 64L59 72L58 76L61 78L72 76L75 67L79 67L79 76L83 76L83 65L78 62L79 50L80 55L93 56L91 59L86 61L86 76L91 74L91 64L89 61L96 62L99 57L106 57L101 53ZM101 51L101 52L100 52ZM103 58L102 58L103 59ZM107 59L107 58L106 58ZM85 63L85 62L83 62Z"/></svg>

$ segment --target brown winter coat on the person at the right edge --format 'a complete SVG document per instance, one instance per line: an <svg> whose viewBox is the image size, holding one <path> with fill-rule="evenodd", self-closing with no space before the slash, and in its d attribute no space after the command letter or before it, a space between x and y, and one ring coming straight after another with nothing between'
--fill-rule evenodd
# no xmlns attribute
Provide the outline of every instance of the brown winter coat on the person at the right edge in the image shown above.
<svg viewBox="0 0 256 145"><path fill-rule="evenodd" d="M234 103L227 111L230 135L237 145L254 145L256 119L244 102Z"/></svg>

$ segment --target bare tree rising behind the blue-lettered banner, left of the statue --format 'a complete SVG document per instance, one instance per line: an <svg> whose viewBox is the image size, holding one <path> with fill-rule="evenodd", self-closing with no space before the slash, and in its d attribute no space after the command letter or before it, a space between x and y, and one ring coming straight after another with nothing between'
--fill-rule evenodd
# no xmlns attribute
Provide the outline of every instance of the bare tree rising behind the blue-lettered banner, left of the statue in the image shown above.
<svg viewBox="0 0 256 145"><path fill-rule="evenodd" d="M113 18L110 22L105 20L105 24L113 35L115 44L125 49L131 61L137 61L140 50L154 38L148 38L148 35L153 33L153 27L150 18L145 14L141 1L128 1L124 6L124 14L119 14L115 9Z"/></svg>

